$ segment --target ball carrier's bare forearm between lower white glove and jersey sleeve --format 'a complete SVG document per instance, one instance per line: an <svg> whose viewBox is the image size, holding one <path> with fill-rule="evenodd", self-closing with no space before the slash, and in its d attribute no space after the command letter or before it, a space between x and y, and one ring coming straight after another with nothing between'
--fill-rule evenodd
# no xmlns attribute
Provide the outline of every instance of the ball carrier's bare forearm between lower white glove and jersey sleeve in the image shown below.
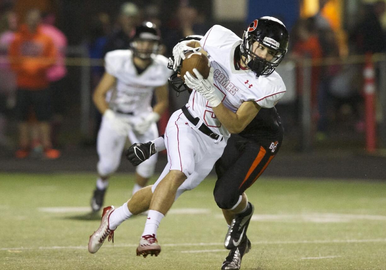
<svg viewBox="0 0 386 270"><path fill-rule="evenodd" d="M220 103L217 107L212 107L213 112L216 114L218 121L223 124L230 133L239 133L247 126L248 123L244 123L243 119L230 109Z"/></svg>

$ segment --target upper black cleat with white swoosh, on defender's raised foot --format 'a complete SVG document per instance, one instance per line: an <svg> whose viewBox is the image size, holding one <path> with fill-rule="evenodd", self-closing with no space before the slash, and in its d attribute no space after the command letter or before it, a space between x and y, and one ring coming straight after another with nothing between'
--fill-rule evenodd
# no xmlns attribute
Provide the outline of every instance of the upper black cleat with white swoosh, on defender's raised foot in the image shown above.
<svg viewBox="0 0 386 270"><path fill-rule="evenodd" d="M252 203L248 202L248 204L248 210L244 213L237 214L230 224L224 241L226 249L232 250L240 245L244 235L247 233L249 221L251 220L254 211Z"/></svg>

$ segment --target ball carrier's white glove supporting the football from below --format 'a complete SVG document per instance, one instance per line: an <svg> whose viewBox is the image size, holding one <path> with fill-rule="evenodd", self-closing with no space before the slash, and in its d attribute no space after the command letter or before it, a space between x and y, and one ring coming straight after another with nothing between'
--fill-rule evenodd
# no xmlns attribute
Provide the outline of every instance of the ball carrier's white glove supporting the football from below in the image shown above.
<svg viewBox="0 0 386 270"><path fill-rule="evenodd" d="M221 92L213 86L213 67L210 68L208 79L204 79L197 69L193 69L196 77L193 77L189 72L184 75L185 84L196 90L201 96L209 101L210 106L217 107L222 101Z"/></svg>

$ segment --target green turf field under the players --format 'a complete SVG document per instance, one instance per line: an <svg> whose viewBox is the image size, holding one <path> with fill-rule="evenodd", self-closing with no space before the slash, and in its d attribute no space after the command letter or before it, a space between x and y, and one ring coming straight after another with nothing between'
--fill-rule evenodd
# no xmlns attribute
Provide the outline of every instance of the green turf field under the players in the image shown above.
<svg viewBox="0 0 386 270"><path fill-rule="evenodd" d="M155 181L155 179L152 179ZM88 236L94 174L0 174L0 269L220 269L227 231L212 196L214 178L183 194L158 230L162 252L137 257L145 216L125 221L95 254ZM128 198L132 175L113 176L106 204ZM252 250L241 269L386 269L386 183L261 177Z"/></svg>

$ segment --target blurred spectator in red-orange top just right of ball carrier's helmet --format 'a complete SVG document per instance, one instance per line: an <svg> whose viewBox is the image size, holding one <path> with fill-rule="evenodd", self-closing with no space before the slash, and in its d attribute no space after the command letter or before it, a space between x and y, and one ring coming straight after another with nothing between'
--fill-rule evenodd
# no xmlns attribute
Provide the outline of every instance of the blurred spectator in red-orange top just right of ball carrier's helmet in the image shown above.
<svg viewBox="0 0 386 270"><path fill-rule="evenodd" d="M292 40L294 40L291 48L291 57L294 60L299 59L320 59L322 58L322 47L320 45L317 34L313 29L313 20L300 19L296 22L292 30ZM313 121L317 120L317 93L319 84L320 67L313 65L311 67L311 109ZM298 92L301 94L303 71L298 70L297 72Z"/></svg>

